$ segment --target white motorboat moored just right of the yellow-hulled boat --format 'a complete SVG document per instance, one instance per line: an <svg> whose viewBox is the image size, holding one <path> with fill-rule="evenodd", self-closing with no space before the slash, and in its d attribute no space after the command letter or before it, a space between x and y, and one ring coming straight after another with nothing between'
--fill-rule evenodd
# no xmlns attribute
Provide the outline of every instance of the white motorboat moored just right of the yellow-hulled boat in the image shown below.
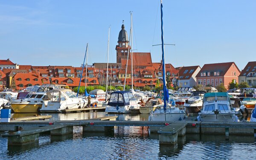
<svg viewBox="0 0 256 160"><path fill-rule="evenodd" d="M65 109L85 108L87 101L81 97L76 97L76 94L70 89L59 88L47 91L48 103L44 103L40 112L58 112Z"/></svg>

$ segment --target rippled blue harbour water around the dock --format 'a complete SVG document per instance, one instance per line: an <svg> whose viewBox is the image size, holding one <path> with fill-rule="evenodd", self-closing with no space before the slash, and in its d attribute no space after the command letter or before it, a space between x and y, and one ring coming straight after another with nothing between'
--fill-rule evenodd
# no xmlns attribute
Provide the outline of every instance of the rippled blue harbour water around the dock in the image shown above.
<svg viewBox="0 0 256 160"><path fill-rule="evenodd" d="M51 113L51 120L87 119L105 116L104 112ZM16 116L16 115L13 115ZM111 115L112 116L112 115ZM147 120L147 114L121 114L117 120ZM2 133L1 133L2 134ZM82 133L74 127L74 134L49 136L41 134L39 143L8 146L0 137L0 160L169 160L169 159L256 159L254 136L186 134L178 137L175 146L159 145L158 134L150 134L146 127L115 127L108 133Z"/></svg>

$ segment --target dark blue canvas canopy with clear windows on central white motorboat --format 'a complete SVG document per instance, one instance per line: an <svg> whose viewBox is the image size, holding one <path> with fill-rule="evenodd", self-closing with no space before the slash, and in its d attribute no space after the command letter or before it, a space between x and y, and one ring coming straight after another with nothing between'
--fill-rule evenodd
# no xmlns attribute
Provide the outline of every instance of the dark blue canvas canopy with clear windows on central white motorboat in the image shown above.
<svg viewBox="0 0 256 160"><path fill-rule="evenodd" d="M130 105L130 101L134 101L133 94L128 91L115 91L111 93L108 105L110 106L125 106Z"/></svg>

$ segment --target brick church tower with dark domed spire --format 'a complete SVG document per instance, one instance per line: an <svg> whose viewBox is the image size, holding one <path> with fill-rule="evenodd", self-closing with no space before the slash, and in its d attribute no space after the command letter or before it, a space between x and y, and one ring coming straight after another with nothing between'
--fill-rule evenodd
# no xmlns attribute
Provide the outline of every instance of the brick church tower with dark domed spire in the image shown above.
<svg viewBox="0 0 256 160"><path fill-rule="evenodd" d="M122 24L122 29L118 36L118 45L116 45L116 63L121 63L121 59L127 59L128 49L128 34L125 30L125 25ZM130 57L129 57L130 58Z"/></svg>

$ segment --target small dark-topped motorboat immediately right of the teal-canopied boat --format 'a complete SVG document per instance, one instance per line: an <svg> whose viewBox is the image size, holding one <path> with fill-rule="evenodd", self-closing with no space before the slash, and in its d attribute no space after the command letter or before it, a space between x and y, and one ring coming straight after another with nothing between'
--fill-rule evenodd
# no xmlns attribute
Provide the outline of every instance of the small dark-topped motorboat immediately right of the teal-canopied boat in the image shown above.
<svg viewBox="0 0 256 160"><path fill-rule="evenodd" d="M236 111L236 115L243 115L246 113L248 115L248 110L239 98L230 97L230 103L234 110Z"/></svg>

